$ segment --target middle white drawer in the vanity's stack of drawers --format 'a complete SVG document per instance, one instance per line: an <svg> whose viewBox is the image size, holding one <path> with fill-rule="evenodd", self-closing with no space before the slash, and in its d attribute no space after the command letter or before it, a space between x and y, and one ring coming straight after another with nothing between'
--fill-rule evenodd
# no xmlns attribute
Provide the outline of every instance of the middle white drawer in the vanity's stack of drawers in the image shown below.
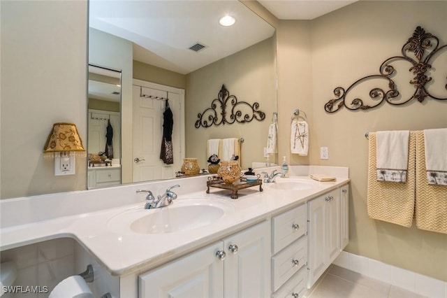
<svg viewBox="0 0 447 298"><path fill-rule="evenodd" d="M307 237L298 239L272 257L272 289L276 291L307 263Z"/></svg>

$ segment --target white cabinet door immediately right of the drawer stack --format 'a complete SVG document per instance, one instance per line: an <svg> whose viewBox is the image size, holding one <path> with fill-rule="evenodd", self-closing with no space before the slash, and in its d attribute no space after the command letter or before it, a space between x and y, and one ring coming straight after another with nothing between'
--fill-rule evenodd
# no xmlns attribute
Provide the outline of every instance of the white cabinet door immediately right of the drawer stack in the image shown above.
<svg viewBox="0 0 447 298"><path fill-rule="evenodd" d="M307 267L309 268L309 280L307 288L312 288L312 285L318 280L318 278L325 271L326 264L326 208L325 197L318 197L309 201L307 206L309 207L308 214L308 259Z"/></svg>

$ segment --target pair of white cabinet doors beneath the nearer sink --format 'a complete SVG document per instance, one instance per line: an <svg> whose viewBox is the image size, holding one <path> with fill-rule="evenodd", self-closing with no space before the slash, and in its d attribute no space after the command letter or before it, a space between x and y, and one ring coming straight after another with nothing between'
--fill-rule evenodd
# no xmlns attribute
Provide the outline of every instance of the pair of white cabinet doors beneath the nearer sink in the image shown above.
<svg viewBox="0 0 447 298"><path fill-rule="evenodd" d="M141 274L139 297L269 297L270 221Z"/></svg>

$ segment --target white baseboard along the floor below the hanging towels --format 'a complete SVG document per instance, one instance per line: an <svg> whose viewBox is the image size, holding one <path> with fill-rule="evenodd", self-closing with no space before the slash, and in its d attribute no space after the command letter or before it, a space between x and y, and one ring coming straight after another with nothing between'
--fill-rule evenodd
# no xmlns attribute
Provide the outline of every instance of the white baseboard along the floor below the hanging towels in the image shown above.
<svg viewBox="0 0 447 298"><path fill-rule="evenodd" d="M333 264L430 298L447 298L447 282L342 251Z"/></svg>

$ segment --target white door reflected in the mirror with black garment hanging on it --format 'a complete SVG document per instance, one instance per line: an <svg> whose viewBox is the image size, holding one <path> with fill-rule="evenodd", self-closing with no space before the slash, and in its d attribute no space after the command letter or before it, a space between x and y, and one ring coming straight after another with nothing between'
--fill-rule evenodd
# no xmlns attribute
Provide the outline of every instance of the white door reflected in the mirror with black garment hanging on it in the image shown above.
<svg viewBox="0 0 447 298"><path fill-rule="evenodd" d="M140 92L147 96L169 99L174 118L174 164L164 164L160 159L166 101L140 97ZM182 164L181 114L179 94L133 85L133 182L175 177L175 171Z"/></svg>

